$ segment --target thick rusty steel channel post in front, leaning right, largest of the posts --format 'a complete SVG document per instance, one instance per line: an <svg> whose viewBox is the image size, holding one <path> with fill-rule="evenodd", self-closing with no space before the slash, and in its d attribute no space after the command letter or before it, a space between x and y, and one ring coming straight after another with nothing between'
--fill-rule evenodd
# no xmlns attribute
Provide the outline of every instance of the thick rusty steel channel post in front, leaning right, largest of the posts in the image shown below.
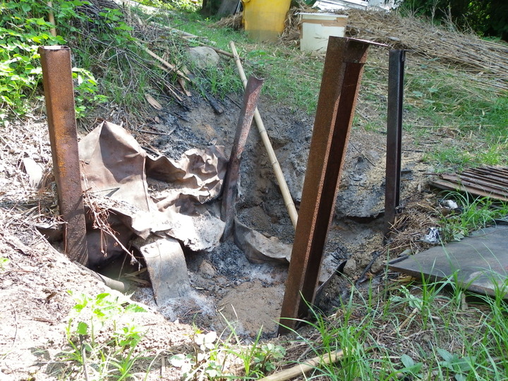
<svg viewBox="0 0 508 381"><path fill-rule="evenodd" d="M294 319L307 313L306 301L314 301L370 44L368 41L329 37L279 334L294 328Z"/></svg>

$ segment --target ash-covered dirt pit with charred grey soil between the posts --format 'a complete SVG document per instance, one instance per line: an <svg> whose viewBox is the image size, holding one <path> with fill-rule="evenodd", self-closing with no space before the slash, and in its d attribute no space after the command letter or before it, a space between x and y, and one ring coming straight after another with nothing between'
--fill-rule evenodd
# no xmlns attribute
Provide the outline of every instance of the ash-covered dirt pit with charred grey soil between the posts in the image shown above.
<svg viewBox="0 0 508 381"><path fill-rule="evenodd" d="M188 99L186 107L169 104L144 130L167 135L133 133L153 155L178 159L191 148L224 145L231 151L241 99L222 100L223 114L214 114L207 102ZM262 102L260 113L298 207L306 170L313 119L303 112L274 107ZM405 155L402 197L411 195L426 168L420 157ZM325 259L320 274L318 301L322 310L337 306L365 267L369 274L380 272L387 260L382 250L384 207L385 136L353 129ZM212 203L219 203L214 200ZM241 163L241 181L236 217L248 228L267 238L291 246L294 228L286 212L277 181L253 123ZM252 263L231 239L209 252L185 250L191 292L157 306L150 288L137 289L133 299L157 308L170 321L186 322L221 332L234 327L237 334L264 337L277 333L287 262ZM328 282L340 273L340 282ZM363 274L365 277L365 274ZM333 303L332 303L333 302Z"/></svg>

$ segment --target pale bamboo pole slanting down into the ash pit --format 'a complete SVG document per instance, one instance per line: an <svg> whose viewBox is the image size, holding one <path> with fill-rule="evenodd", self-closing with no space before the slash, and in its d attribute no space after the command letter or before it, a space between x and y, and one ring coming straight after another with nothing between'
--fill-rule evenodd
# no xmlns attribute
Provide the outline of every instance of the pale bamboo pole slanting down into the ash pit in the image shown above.
<svg viewBox="0 0 508 381"><path fill-rule="evenodd" d="M229 42L229 47L231 48L231 52L233 52L234 60L236 62L236 67L238 68L238 73L240 73L240 78L242 80L243 87L246 87L247 77L245 71L243 71L243 66L241 64L240 57L238 56L238 52L236 52L236 47L233 41ZM296 212L296 207L294 205L293 198L291 197L291 193L289 193L289 188L287 186L286 179L284 179L284 174L282 174L282 169L280 167L279 160L277 160L277 156L275 156L272 143L270 143L270 138L268 137L265 124L261 119L261 115L257 107L254 111L254 120L256 122L256 126L258 126L258 130L261 135L261 140L265 145L268 157L270 158L270 162L272 163L272 167L275 172L275 178L279 183L279 188L282 192L282 198L284 198L284 203L286 204L286 208L289 213L289 218L291 219L293 227L296 229L296 222L298 222L298 212Z"/></svg>

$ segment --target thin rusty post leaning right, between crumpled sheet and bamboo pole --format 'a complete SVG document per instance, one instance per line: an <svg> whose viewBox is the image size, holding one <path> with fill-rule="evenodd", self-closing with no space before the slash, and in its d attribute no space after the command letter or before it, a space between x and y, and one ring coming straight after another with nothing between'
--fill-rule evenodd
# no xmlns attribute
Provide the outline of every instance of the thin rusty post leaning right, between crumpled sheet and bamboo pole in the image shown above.
<svg viewBox="0 0 508 381"><path fill-rule="evenodd" d="M222 241L233 234L233 225L235 217L236 194L238 193L238 177L240 176L240 162L243 149L245 148L247 136L252 124L254 111L258 104L263 80L250 76L247 81L246 90L243 95L243 106L240 111L236 134L231 148L231 155L224 181L224 191L222 194L222 221L226 222Z"/></svg>

